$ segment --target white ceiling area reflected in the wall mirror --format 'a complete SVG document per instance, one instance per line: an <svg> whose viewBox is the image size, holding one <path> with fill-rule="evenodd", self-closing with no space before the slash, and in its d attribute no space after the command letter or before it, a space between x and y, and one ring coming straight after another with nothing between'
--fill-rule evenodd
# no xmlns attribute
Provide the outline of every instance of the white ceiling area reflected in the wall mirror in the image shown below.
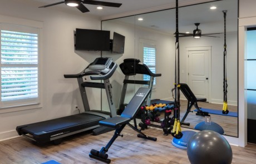
<svg viewBox="0 0 256 164"><path fill-rule="evenodd" d="M215 10L211 10L211 6L216 6ZM179 32L193 33L196 28L194 23L200 23L199 29L202 34L224 32L224 14L223 10L227 10L227 32L235 32L238 28L238 3L236 0L224 0L209 3L196 4L179 8ZM167 9L159 12L151 12L146 14L138 14L136 18L125 17L119 21L136 26L155 29L157 31L173 34L176 31L175 8ZM143 18L138 21L137 18Z"/></svg>

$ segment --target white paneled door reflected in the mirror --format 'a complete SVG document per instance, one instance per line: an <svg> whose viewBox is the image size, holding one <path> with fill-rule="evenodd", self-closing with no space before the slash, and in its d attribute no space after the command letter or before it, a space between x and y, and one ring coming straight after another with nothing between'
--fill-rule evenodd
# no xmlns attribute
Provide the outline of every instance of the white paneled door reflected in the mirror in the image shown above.
<svg viewBox="0 0 256 164"><path fill-rule="evenodd" d="M188 85L195 97L209 102L209 50L188 51Z"/></svg>

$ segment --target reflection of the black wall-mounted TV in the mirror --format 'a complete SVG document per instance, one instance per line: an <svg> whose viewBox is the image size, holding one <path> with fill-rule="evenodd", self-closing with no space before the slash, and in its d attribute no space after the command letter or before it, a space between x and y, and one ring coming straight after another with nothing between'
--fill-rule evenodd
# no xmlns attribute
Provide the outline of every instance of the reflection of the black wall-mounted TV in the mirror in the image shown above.
<svg viewBox="0 0 256 164"><path fill-rule="evenodd" d="M122 36L121 34L114 32L111 50L114 53L124 53L125 36Z"/></svg>

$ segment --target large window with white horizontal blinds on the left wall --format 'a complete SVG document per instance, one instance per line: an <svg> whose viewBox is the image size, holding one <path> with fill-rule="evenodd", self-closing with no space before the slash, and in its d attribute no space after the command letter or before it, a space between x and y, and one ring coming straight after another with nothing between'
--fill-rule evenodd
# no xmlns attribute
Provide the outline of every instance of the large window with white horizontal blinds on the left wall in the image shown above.
<svg viewBox="0 0 256 164"><path fill-rule="evenodd" d="M39 103L39 29L1 24L1 108Z"/></svg>

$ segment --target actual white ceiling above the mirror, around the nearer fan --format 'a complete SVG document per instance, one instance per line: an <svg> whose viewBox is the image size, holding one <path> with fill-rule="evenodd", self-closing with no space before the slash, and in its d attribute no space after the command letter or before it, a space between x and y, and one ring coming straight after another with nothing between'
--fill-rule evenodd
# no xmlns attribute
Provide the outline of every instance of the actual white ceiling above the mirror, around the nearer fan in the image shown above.
<svg viewBox="0 0 256 164"><path fill-rule="evenodd" d="M37 4L38 7L45 6L47 4L52 4L56 2L64 2L65 0L21 0L24 3L33 2ZM86 0L81 0L86 1ZM97 6L91 4L85 4L85 6L90 10L90 12L83 13L92 16L101 17L102 19L110 17L121 17L124 15L132 15L134 13L145 13L149 11L157 11L160 9L171 8L175 6L175 0L98 0L105 2L115 2L122 3L121 7L104 7L101 11L96 9ZM209 2L213 0L179 0L179 6L184 6L186 4L194 4L200 2ZM80 14L81 12L76 7L68 7L65 3L57 4L56 6L51 6L48 8L52 9L62 9L67 12L74 12ZM44 8L38 8L44 9Z"/></svg>

